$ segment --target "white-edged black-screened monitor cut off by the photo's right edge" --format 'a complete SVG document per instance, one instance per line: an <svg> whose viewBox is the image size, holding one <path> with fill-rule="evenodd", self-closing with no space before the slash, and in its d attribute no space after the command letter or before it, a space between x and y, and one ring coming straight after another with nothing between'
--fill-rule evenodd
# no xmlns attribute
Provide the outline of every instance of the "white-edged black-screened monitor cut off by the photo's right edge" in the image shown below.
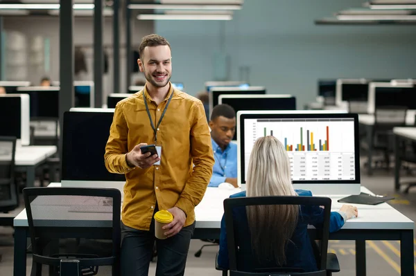
<svg viewBox="0 0 416 276"><path fill-rule="evenodd" d="M416 109L416 86L410 82L371 82L368 90L367 112L376 107L407 107Z"/></svg>

